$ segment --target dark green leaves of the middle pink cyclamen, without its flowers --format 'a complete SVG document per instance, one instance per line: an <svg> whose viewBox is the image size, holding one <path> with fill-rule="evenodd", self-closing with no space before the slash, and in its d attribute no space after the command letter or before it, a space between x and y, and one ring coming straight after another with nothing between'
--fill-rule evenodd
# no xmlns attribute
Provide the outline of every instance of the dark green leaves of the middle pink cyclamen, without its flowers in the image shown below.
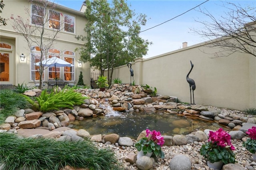
<svg viewBox="0 0 256 170"><path fill-rule="evenodd" d="M236 162L235 154L230 148L213 147L211 142L202 145L200 154L211 163L222 161L223 164L234 164Z"/></svg>

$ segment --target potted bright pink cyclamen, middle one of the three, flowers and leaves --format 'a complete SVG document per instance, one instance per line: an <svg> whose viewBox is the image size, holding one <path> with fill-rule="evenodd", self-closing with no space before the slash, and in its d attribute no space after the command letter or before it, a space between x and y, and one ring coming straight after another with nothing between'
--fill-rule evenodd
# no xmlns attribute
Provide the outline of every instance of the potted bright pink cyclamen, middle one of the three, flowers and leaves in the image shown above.
<svg viewBox="0 0 256 170"><path fill-rule="evenodd" d="M236 162L233 150L230 134L219 128L215 132L210 131L208 142L202 145L200 154L207 159L208 166L214 162L221 162L222 166Z"/></svg>

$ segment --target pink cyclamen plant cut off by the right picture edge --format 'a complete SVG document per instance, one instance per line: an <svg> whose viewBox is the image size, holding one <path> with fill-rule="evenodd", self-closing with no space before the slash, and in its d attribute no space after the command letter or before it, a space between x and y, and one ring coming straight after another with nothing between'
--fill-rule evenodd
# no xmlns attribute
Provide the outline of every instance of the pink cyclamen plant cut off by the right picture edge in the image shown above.
<svg viewBox="0 0 256 170"><path fill-rule="evenodd" d="M243 142L243 146L252 153L254 159L256 159L256 127L252 127L246 131L249 138Z"/></svg>

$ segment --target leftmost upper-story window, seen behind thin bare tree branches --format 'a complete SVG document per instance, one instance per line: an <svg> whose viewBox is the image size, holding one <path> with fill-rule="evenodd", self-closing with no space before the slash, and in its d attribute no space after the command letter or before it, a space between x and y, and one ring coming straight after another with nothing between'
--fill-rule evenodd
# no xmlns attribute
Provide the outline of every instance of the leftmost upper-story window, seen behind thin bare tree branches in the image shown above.
<svg viewBox="0 0 256 170"><path fill-rule="evenodd" d="M43 26L44 23L44 8L41 6L31 5L31 24Z"/></svg>

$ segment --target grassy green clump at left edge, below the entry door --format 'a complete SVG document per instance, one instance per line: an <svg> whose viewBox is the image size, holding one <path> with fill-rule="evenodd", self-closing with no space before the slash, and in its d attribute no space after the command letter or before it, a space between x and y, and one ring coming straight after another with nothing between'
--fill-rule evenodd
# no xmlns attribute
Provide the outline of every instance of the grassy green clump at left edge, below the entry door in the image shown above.
<svg viewBox="0 0 256 170"><path fill-rule="evenodd" d="M0 90L0 124L4 123L8 116L12 116L19 109L28 107L25 98L10 89Z"/></svg>

